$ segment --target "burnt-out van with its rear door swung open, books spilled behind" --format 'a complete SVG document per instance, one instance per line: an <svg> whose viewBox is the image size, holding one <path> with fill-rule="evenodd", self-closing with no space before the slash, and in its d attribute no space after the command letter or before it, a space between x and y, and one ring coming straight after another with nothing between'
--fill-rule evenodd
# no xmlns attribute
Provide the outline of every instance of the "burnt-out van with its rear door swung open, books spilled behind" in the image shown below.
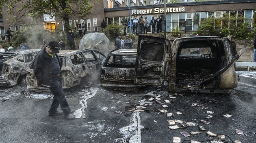
<svg viewBox="0 0 256 143"><path fill-rule="evenodd" d="M135 84L163 85L172 92L230 93L239 78L225 37L187 37L170 41L139 36Z"/></svg>

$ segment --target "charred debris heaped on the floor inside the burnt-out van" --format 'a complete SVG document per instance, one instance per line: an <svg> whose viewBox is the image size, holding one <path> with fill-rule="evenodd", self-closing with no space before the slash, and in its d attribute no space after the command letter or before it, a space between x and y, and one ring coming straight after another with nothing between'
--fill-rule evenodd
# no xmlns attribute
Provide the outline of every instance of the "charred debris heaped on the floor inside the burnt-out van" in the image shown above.
<svg viewBox="0 0 256 143"><path fill-rule="evenodd" d="M180 88L199 88L202 87L200 84L211 76L213 74L210 74L210 69L177 69L176 85Z"/></svg>

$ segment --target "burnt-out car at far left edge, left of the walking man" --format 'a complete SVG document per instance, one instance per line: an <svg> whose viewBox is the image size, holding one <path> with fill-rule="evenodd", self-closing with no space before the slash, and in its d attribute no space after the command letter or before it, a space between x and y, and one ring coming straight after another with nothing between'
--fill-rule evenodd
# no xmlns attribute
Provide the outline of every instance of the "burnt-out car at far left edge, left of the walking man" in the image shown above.
<svg viewBox="0 0 256 143"><path fill-rule="evenodd" d="M39 50L11 50L0 54L0 86L26 86L26 68Z"/></svg>

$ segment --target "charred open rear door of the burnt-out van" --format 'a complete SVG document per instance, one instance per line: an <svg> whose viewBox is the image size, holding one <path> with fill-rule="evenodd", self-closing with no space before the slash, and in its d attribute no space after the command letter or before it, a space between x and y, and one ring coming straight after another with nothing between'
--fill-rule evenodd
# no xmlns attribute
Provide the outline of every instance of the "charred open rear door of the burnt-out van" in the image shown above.
<svg viewBox="0 0 256 143"><path fill-rule="evenodd" d="M163 85L169 80L171 44L159 37L139 36L135 84Z"/></svg>

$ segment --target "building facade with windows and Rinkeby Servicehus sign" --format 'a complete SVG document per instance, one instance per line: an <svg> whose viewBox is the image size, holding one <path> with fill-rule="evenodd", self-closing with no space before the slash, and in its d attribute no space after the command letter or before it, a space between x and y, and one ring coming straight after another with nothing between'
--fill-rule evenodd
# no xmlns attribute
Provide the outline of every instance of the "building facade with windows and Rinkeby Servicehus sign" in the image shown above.
<svg viewBox="0 0 256 143"><path fill-rule="evenodd" d="M225 13L238 16L241 8L244 10L243 16L247 18L247 22L251 26L255 24L256 20L256 0L205 0L204 2L167 0L165 7L163 2L163 0L100 0L94 4L91 14L87 15L84 19L71 17L69 19L69 25L77 30L75 27L78 21L80 23L85 21L88 32L98 32L101 29L100 24L102 19L105 19L107 24L115 21L121 25L121 19L123 17L129 19L130 16L133 18L137 15L138 18L140 15L143 15L143 18L148 17L150 21L153 16L156 19L158 15L161 15L163 19L164 16L166 17L167 32L171 32L177 27L182 31L193 32L197 30L200 22L206 17L222 17ZM50 19L48 15L43 15L36 20L27 18L19 23L11 23L10 20L7 20L10 16L7 13L7 8L3 7L2 12L3 19L0 19L0 40L6 39L5 33L8 28L11 28L12 31L37 29L38 27L53 31L64 28L64 21L61 19Z"/></svg>

